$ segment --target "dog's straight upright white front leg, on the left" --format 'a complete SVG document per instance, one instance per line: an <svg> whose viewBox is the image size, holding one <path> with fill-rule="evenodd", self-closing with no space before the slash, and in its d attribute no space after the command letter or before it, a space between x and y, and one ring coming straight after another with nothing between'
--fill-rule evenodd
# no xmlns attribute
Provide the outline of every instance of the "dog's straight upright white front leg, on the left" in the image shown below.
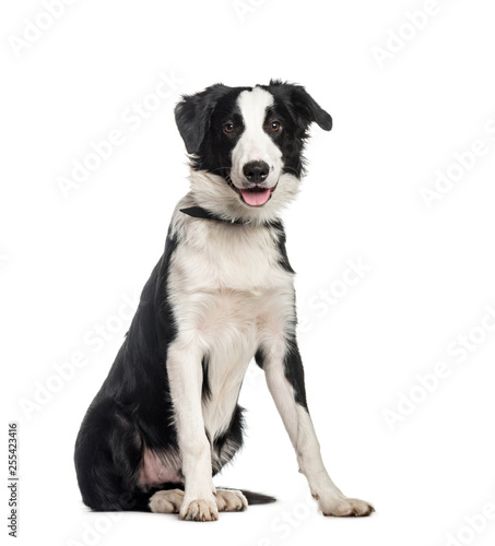
<svg viewBox="0 0 495 546"><path fill-rule="evenodd" d="M202 352L195 343L176 340L167 355L177 439L182 461L185 495L181 520L219 519L212 480L211 449L201 411Z"/></svg>

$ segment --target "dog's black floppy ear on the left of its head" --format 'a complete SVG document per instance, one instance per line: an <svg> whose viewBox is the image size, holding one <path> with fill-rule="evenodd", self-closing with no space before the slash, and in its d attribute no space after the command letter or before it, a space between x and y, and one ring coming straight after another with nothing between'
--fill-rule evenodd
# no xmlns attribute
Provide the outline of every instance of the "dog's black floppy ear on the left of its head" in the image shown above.
<svg viewBox="0 0 495 546"><path fill-rule="evenodd" d="M210 127L213 109L229 87L217 83L196 95L184 95L175 107L175 121L188 154L196 154Z"/></svg>

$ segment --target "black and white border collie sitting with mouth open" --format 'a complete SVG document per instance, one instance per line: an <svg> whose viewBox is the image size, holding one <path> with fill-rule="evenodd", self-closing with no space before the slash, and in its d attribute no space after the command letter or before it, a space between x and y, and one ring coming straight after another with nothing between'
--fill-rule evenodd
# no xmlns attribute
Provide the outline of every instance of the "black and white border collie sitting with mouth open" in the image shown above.
<svg viewBox="0 0 495 546"><path fill-rule="evenodd" d="M83 501L212 521L274 500L212 482L243 444L237 400L255 357L322 513L369 515L373 507L345 497L323 466L280 219L299 190L308 127L329 131L332 119L304 87L280 81L213 85L182 97L175 114L191 187L82 423Z"/></svg>

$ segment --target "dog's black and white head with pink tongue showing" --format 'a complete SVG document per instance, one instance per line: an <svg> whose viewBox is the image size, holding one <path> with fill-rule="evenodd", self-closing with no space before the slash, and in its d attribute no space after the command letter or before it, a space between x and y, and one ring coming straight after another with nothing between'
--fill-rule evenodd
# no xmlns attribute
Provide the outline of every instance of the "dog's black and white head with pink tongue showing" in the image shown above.
<svg viewBox="0 0 495 546"><path fill-rule="evenodd" d="M175 109L200 206L225 218L270 221L296 194L307 129L332 118L299 85L216 84Z"/></svg>

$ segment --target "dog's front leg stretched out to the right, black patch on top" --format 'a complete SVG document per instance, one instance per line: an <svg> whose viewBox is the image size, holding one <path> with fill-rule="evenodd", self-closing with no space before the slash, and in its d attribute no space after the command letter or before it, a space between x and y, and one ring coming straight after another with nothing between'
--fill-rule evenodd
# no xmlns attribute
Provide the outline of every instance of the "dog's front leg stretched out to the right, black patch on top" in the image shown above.
<svg viewBox="0 0 495 546"><path fill-rule="evenodd" d="M304 370L295 336L278 339L261 347L257 361L266 371L267 383L296 451L299 472L325 515L369 515L374 508L342 494L328 475L320 446L307 410Z"/></svg>

